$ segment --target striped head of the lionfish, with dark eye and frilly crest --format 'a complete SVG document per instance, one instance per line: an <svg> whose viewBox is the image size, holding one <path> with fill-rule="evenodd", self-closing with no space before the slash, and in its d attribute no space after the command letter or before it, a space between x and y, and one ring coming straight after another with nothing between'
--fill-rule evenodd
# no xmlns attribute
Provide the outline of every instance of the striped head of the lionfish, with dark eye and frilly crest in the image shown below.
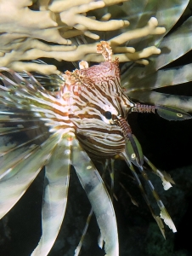
<svg viewBox="0 0 192 256"><path fill-rule="evenodd" d="M102 41L98 53L104 62L88 67L80 63L80 70L66 72L65 86L71 91L70 119L76 136L93 158L109 158L125 150L125 131L121 120L133 107L121 90L118 60L111 61L110 45ZM125 121L126 122L126 121Z"/></svg>

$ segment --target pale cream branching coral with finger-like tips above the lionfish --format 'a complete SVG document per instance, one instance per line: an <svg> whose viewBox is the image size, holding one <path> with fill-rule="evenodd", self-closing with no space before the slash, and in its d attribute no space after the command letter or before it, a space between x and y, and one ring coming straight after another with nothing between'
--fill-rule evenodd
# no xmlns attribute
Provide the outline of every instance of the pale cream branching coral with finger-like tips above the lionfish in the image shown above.
<svg viewBox="0 0 192 256"><path fill-rule="evenodd" d="M129 40L148 35L162 34L165 28L158 27L155 18L151 18L146 26L128 31L127 20L109 20L110 14L104 15L100 20L89 16L88 12L101 9L116 1L79 0L72 3L69 0L51 1L39 0L33 3L29 0L1 1L0 6L0 66L10 67L15 71L37 71L40 73L59 73L54 65L40 65L26 62L41 57L54 58L62 61L102 61L102 57L94 54L96 44L93 40L99 39L100 31L116 30L117 36L108 40L120 61L143 60L153 54L159 54L160 49L155 46L135 51L133 47L125 44ZM31 6L31 9L29 8ZM34 10L35 9L35 10ZM123 31L121 31L123 29ZM98 33L92 32L98 31ZM68 38L84 35L92 38L90 44L69 45ZM52 44L50 44L50 42ZM54 44L53 44L54 43ZM123 44L121 46L121 44Z"/></svg>

